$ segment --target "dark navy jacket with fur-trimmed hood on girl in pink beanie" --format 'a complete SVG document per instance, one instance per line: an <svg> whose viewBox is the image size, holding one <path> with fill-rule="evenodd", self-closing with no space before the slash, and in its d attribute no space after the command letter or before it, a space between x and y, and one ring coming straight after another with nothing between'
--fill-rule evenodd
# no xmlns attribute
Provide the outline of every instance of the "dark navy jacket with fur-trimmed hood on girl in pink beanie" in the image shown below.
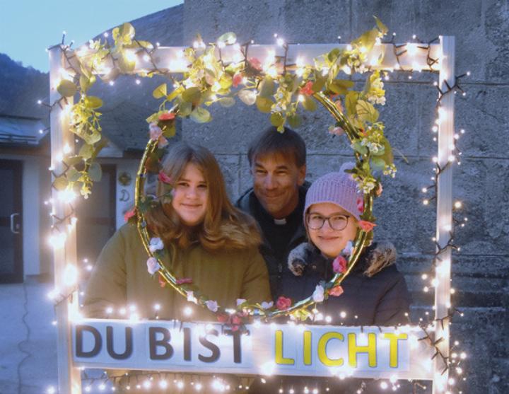
<svg viewBox="0 0 509 394"><path fill-rule="evenodd" d="M318 309L332 324L397 325L409 323L411 297L403 274L395 265L392 243L379 242L366 248L341 286L341 296L330 296ZM296 273L284 278L282 293L298 301L315 291L321 280L333 277L332 259L310 243L299 245L288 256L288 267ZM297 274L300 276L297 276ZM344 313L346 313L346 315ZM344 317L341 317L344 315Z"/></svg>

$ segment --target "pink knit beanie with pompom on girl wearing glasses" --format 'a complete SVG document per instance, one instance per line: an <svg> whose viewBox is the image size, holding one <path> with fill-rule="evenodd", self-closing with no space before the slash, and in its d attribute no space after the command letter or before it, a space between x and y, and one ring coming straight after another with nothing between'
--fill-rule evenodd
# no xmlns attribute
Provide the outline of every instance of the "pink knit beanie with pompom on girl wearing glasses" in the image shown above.
<svg viewBox="0 0 509 394"><path fill-rule="evenodd" d="M349 212L357 220L361 220L357 200L363 197L362 193L358 192L357 182L353 180L351 174L344 172L353 166L353 163L344 163L339 172L325 174L312 182L306 193L304 216L312 204L332 202Z"/></svg>

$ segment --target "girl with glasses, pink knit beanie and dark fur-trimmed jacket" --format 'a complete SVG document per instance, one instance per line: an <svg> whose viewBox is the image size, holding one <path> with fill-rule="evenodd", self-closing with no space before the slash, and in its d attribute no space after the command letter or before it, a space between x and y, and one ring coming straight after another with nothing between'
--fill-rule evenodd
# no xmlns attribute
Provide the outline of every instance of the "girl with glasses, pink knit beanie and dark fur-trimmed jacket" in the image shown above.
<svg viewBox="0 0 509 394"><path fill-rule="evenodd" d="M304 224L308 243L288 256L295 275L283 282L282 293L293 301L311 294L321 301L320 281L341 272L349 258L361 220L362 194L356 181L344 170L328 173L312 183L305 199ZM329 296L318 309L333 324L398 325L409 322L411 298L406 282L395 265L396 251L388 242L365 248L356 266L344 279L337 296ZM341 294L342 289L342 294Z"/></svg>

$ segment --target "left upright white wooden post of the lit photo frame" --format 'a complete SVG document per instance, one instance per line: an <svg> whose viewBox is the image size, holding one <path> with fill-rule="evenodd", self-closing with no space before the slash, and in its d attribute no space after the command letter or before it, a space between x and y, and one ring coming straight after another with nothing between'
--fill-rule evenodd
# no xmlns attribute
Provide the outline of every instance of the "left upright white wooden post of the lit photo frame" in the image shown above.
<svg viewBox="0 0 509 394"><path fill-rule="evenodd" d="M65 66L64 53L61 47L53 47L49 50L49 102L56 103L60 98L57 92L57 86L62 79L62 70ZM69 114L73 98L67 98L67 102L61 102L60 105L54 105L50 115L51 123L51 166L56 175L64 170L62 156L64 149L74 149L74 139L69 132ZM52 176L52 181L54 176ZM59 199L59 192L52 189L52 214L57 218L64 218L69 214L69 204ZM67 224L57 224L54 219L55 228L52 229L52 235L65 234L66 238L63 245L54 243L53 261L54 261L54 285L56 293L62 295L69 294L74 288L73 275L76 270L76 226L67 226ZM77 279L77 278L76 278ZM57 299L57 301L59 301ZM73 366L71 330L69 318L78 311L78 294L74 291L69 299L57 303L55 312L57 314L57 365L59 376L59 394L81 394L81 375L80 371Z"/></svg>

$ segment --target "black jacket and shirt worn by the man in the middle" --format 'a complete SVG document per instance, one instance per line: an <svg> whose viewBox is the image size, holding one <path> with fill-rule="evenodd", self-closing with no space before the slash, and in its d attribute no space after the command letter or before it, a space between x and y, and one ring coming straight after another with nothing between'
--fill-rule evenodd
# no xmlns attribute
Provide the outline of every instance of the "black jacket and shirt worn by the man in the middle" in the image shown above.
<svg viewBox="0 0 509 394"><path fill-rule="evenodd" d="M252 188L247 190L235 204L243 212L253 216L259 224L262 232L262 245L260 245L259 251L267 263L271 293L274 300L282 294L281 281L283 278L293 277L291 271L288 270L288 253L306 240L305 228L303 226L303 210L305 194L309 186L310 183L305 182L300 187L298 206L286 218L287 223L283 225L274 223L274 218L262 207ZM286 241L277 236L279 231L289 235Z"/></svg>

